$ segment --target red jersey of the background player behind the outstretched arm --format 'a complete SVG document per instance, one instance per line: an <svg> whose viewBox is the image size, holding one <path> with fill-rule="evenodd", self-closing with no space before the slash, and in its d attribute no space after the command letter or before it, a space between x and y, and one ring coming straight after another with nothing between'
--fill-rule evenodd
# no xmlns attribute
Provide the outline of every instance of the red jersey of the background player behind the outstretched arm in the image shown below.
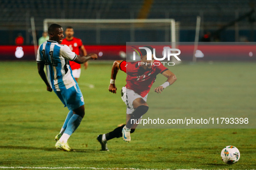
<svg viewBox="0 0 256 170"><path fill-rule="evenodd" d="M71 51L75 52L75 54L80 54L80 47L83 45L82 40L79 38L73 37L71 41L68 41L67 38L62 40L62 44L66 44ZM81 65L76 63L75 61L69 61L69 65L71 69L80 69Z"/></svg>

